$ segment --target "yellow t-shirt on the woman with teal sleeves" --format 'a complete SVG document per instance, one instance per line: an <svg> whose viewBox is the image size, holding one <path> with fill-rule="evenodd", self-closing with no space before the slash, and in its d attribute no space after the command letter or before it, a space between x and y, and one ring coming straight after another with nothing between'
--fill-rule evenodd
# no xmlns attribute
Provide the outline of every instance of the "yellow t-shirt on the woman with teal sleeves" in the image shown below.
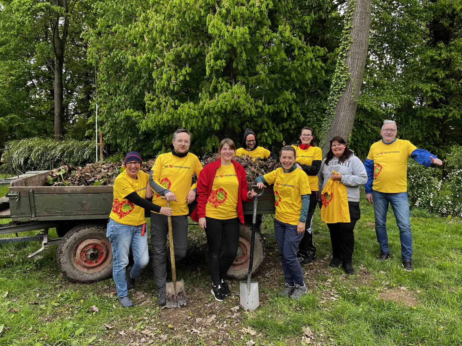
<svg viewBox="0 0 462 346"><path fill-rule="evenodd" d="M291 173L284 173L283 168L279 167L265 174L263 178L269 185L274 184L276 219L291 225L298 225L302 211L301 195L311 194L308 175L298 168Z"/></svg>

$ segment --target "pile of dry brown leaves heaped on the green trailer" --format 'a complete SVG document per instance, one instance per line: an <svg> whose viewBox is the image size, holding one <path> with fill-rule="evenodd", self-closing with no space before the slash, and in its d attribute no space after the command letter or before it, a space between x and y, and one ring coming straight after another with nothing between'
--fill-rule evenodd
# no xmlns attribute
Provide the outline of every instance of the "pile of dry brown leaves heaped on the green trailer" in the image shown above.
<svg viewBox="0 0 462 346"><path fill-rule="evenodd" d="M203 158L201 164L205 166L207 163L217 160L218 157L218 154L213 154L212 156ZM271 157L266 160L252 160L249 156L240 156L235 157L234 160L244 167L248 182L253 182L257 176L269 173L280 167L279 162ZM155 161L156 159L144 161L141 165L141 170L149 173ZM47 183L55 186L114 185L117 175L125 169L122 164L123 161L106 161L89 163L85 167L73 167L65 163L63 166L55 168L49 173ZM196 181L197 177L193 176L193 183Z"/></svg>

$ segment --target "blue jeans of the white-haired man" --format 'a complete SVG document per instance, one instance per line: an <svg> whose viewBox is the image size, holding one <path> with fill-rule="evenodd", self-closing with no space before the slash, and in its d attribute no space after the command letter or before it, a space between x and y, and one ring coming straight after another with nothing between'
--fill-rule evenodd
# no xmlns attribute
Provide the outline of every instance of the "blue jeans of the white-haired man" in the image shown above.
<svg viewBox="0 0 462 346"><path fill-rule="evenodd" d="M412 233L407 192L386 193L372 191L372 199L374 201L376 234L380 250L390 253L386 226L388 204L390 203L395 214L396 225L400 230L402 260L410 261L412 256Z"/></svg>

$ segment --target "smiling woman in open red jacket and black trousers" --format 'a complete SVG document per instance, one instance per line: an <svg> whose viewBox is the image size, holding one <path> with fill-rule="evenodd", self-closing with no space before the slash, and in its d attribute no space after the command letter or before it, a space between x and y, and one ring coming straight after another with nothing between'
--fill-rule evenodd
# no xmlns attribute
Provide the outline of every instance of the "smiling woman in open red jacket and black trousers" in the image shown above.
<svg viewBox="0 0 462 346"><path fill-rule="evenodd" d="M244 168L232 160L235 153L234 142L223 139L219 159L206 165L199 174L197 207L191 214L191 219L199 221L207 234L207 262L213 281L211 292L219 302L231 295L224 279L239 246L239 222L244 223L242 201L251 202L256 195L255 191L247 189Z"/></svg>

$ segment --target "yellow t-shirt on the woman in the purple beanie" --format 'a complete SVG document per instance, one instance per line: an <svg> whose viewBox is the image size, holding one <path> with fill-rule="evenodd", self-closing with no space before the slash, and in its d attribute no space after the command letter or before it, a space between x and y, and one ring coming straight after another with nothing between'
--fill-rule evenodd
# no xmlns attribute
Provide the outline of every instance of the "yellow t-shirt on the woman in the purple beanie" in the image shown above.
<svg viewBox="0 0 462 346"><path fill-rule="evenodd" d="M127 171L120 173L114 181L114 200L109 217L119 223L130 226L140 226L146 222L144 217L145 209L141 208L125 196L136 192L141 198L146 197L146 185L149 182L149 175L143 171L138 172L138 179L132 179Z"/></svg>

